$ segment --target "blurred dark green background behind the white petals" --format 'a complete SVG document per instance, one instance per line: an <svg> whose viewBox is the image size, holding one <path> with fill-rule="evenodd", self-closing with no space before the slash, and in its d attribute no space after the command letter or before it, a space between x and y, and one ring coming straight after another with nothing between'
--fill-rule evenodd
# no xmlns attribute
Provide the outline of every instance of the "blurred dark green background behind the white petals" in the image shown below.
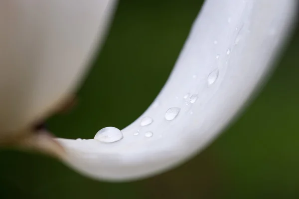
<svg viewBox="0 0 299 199"><path fill-rule="evenodd" d="M48 121L65 138L126 127L165 83L201 0L120 0L109 37L78 91ZM217 14L217 13L215 13ZM219 139L183 166L133 183L85 178L54 159L0 151L0 199L298 199L299 31L258 98Z"/></svg>

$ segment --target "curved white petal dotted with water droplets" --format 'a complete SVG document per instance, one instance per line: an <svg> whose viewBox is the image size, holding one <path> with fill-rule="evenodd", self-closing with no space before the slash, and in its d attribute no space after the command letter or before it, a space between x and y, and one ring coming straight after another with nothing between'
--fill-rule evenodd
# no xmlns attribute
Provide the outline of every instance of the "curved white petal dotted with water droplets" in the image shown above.
<svg viewBox="0 0 299 199"><path fill-rule="evenodd" d="M206 0L158 103L122 130L124 138L118 142L58 139L66 150L63 161L95 179L126 181L161 173L198 153L266 79L292 29L296 4ZM186 93L198 95L196 102L188 103ZM180 111L167 121L165 112L171 107ZM153 122L140 126L144 117ZM147 132L153 135L147 137Z"/></svg>

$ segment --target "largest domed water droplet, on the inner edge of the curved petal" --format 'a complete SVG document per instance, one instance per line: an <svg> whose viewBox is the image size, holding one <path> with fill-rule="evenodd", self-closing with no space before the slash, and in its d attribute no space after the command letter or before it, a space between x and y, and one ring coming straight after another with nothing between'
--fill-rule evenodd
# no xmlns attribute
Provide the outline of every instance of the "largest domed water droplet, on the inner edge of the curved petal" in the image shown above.
<svg viewBox="0 0 299 199"><path fill-rule="evenodd" d="M117 142L123 138L124 136L121 130L115 127L105 127L98 131L94 137L95 140L105 143Z"/></svg>

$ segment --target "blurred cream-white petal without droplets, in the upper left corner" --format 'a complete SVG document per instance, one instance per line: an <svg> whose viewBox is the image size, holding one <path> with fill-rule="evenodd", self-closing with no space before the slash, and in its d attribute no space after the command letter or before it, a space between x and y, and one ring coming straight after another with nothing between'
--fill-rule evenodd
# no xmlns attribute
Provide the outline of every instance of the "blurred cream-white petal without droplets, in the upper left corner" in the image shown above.
<svg viewBox="0 0 299 199"><path fill-rule="evenodd" d="M1 136L44 119L71 94L115 2L0 1Z"/></svg>

